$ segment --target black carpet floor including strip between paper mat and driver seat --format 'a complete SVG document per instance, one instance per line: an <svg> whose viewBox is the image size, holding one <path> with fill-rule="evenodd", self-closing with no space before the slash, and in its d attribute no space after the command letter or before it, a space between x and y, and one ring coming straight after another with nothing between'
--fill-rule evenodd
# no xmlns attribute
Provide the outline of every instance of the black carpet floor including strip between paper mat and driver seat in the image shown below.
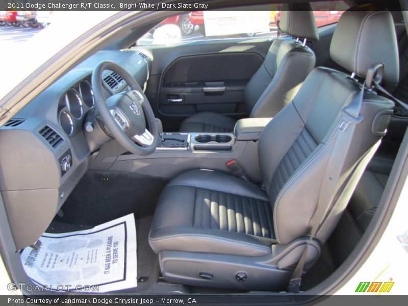
<svg viewBox="0 0 408 306"><path fill-rule="evenodd" d="M88 171L72 191L47 233L66 233L92 228L133 213L137 234L137 273L139 292L155 285L159 276L157 255L148 244L152 216L167 181L127 172Z"/></svg>

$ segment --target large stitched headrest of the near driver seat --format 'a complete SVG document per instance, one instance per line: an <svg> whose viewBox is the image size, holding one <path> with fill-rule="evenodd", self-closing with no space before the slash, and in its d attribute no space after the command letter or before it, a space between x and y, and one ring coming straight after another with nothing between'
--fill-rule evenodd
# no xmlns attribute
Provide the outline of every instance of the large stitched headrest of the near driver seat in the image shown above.
<svg viewBox="0 0 408 306"><path fill-rule="evenodd" d="M398 84L398 44L391 13L363 11L362 6L345 11L331 39L330 57L362 78L373 64L383 63L383 80Z"/></svg>

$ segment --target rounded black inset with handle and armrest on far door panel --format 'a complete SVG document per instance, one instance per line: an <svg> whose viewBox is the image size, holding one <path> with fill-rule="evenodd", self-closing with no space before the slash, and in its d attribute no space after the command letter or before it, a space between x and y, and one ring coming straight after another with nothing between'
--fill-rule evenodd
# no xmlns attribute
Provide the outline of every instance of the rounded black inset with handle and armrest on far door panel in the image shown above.
<svg viewBox="0 0 408 306"><path fill-rule="evenodd" d="M166 115L240 114L245 109L246 84L262 62L252 52L180 57L164 72L159 111Z"/></svg>

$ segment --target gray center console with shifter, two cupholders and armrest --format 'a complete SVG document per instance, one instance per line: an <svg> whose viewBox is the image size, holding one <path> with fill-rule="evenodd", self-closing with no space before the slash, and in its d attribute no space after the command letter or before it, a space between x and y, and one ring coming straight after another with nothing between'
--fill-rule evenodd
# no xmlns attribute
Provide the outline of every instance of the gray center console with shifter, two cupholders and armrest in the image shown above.
<svg viewBox="0 0 408 306"><path fill-rule="evenodd" d="M260 182L258 140L271 118L241 119L234 133L161 133L156 151L137 156L112 142L94 158L91 169L128 171L172 177L190 169L229 172L226 164L235 160L252 182Z"/></svg>

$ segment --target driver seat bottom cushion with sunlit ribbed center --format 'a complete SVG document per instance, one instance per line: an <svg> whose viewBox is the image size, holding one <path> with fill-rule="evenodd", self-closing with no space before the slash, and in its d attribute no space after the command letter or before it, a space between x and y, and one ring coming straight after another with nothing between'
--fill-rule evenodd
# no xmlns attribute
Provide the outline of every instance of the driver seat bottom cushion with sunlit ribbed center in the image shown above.
<svg viewBox="0 0 408 306"><path fill-rule="evenodd" d="M149 243L157 253L266 255L275 243L271 206L255 184L218 171L190 170L164 188Z"/></svg>

